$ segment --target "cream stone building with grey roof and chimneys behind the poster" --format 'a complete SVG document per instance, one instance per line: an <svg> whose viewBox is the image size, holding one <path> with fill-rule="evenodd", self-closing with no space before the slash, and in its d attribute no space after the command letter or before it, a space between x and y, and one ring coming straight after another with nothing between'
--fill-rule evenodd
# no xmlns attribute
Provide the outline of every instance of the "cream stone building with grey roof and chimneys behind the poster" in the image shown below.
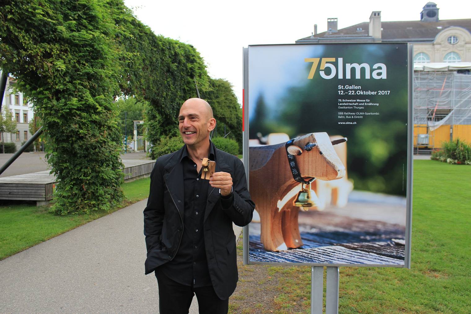
<svg viewBox="0 0 471 314"><path fill-rule="evenodd" d="M327 42L410 42L414 45L414 63L471 62L471 18L440 20L437 4L427 2L417 21L382 21L381 11L373 11L369 22L337 29L337 18L328 18L326 32L317 33L314 25L311 36L296 41Z"/></svg>

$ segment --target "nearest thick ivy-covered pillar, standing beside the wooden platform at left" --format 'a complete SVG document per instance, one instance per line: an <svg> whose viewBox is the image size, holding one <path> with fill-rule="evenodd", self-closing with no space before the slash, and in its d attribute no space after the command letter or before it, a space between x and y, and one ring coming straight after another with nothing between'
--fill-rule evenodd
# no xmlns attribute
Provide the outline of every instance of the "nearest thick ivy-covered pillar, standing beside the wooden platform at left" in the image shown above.
<svg viewBox="0 0 471 314"><path fill-rule="evenodd" d="M120 53L110 4L2 1L0 67L32 99L58 183L58 214L109 209L122 198L118 122Z"/></svg>

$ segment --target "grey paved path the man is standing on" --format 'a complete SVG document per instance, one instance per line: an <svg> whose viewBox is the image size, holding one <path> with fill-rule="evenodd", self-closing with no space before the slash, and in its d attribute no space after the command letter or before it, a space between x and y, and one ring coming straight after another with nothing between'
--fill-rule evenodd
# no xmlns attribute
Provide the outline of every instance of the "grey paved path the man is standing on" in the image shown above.
<svg viewBox="0 0 471 314"><path fill-rule="evenodd" d="M157 280L144 275L146 202L0 261L0 313L158 313Z"/></svg>

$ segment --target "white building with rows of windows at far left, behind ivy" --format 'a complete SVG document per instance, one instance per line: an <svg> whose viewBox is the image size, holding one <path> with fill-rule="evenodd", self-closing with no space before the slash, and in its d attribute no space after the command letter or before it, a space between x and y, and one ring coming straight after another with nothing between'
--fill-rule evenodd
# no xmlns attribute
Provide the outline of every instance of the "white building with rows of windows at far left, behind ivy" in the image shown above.
<svg viewBox="0 0 471 314"><path fill-rule="evenodd" d="M2 71L0 70L0 75ZM24 140L28 140L32 134L29 132L29 121L33 117L32 104L27 101L23 96L23 93L14 92L12 87L15 84L15 80L11 77L7 79L7 86L5 87L5 95L1 107L8 107L11 111L14 119L16 119L16 132L15 133L3 133L3 140L5 143L14 142L16 148L21 146Z"/></svg>

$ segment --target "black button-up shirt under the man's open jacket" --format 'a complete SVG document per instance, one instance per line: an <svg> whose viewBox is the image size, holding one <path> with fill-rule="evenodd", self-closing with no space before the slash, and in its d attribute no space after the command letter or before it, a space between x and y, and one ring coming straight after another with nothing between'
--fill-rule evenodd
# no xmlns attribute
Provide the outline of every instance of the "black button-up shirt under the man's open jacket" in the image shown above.
<svg viewBox="0 0 471 314"><path fill-rule="evenodd" d="M208 158L214 160L214 149L210 145ZM211 286L206 250L204 247L203 218L208 193L213 189L208 180L201 179L196 164L188 156L187 146L183 150L180 163L183 167L184 215L183 235L177 255L159 267L165 275L183 285L195 288ZM218 189L219 190L219 189ZM223 198L224 199L224 198ZM231 194L223 201L223 207L232 205Z"/></svg>

